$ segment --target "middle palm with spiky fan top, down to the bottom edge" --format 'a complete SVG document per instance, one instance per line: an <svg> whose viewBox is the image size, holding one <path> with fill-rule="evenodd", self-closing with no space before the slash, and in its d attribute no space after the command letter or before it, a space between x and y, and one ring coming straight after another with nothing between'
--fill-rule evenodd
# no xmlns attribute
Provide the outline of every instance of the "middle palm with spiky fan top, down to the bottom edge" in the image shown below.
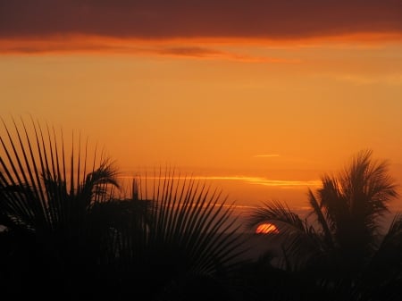
<svg viewBox="0 0 402 301"><path fill-rule="evenodd" d="M136 288L147 300L234 299L230 277L245 242L235 206L226 205L222 191L174 171L154 178L147 180L151 196L143 192L136 200L147 203L145 214L120 228L121 294Z"/></svg>

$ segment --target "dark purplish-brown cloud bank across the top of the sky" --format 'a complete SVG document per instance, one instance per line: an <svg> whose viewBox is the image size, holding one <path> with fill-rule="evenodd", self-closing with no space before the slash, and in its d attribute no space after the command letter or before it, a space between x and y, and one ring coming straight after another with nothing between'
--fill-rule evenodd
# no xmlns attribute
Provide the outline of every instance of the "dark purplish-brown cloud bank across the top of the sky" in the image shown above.
<svg viewBox="0 0 402 301"><path fill-rule="evenodd" d="M399 0L0 0L0 38L307 38L402 32Z"/></svg>

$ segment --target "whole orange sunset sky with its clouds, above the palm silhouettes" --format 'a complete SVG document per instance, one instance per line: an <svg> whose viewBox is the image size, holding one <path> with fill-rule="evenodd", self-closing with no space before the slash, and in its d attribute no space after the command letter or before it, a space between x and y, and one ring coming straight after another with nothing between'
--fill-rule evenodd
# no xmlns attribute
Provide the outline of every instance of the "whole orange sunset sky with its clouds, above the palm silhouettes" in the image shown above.
<svg viewBox="0 0 402 301"><path fill-rule="evenodd" d="M0 91L122 177L169 166L238 205L301 210L363 149L402 184L399 0L0 0Z"/></svg>

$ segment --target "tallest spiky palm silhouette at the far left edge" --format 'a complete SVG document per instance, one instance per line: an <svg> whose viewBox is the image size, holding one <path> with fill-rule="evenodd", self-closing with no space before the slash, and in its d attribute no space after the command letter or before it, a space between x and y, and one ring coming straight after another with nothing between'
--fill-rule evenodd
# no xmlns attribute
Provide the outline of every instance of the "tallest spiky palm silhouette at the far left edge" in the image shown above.
<svg viewBox="0 0 402 301"><path fill-rule="evenodd" d="M54 128L31 119L29 131L22 119L19 124L13 120L13 127L2 121L0 225L8 250L4 262L10 268L4 271L17 271L21 282L8 283L8 288L24 283L38 289L39 283L48 282L67 297L73 294L72 283L83 290L83 278L95 274L105 253L101 241L115 219L113 213L119 213L111 197L118 187L115 168L104 155L97 161L96 152L90 163L88 144L82 154L80 140L78 150L73 145L67 157L63 133L58 140ZM13 290L23 292L27 290Z"/></svg>

